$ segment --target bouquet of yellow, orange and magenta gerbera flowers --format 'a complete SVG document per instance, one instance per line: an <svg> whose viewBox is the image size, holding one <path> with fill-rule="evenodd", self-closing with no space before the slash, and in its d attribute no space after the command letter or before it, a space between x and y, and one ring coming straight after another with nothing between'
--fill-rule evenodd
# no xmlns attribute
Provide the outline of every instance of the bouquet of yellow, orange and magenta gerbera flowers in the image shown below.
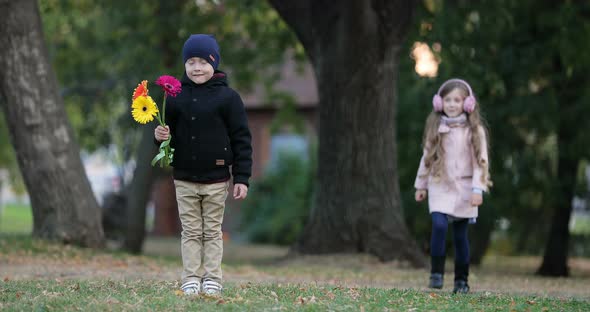
<svg viewBox="0 0 590 312"><path fill-rule="evenodd" d="M137 88L133 91L132 100L133 103L131 104L131 115L133 119L140 124L146 124L154 120L154 117L160 123L160 126L166 126L166 98L168 96L175 97L181 91L181 84L176 78L168 75L160 76L156 80L156 84L162 87L164 91L164 101L162 102L162 114L160 115L160 110L158 109L158 105L152 99L151 96L148 94L148 87L147 87L147 80L143 80L140 84L137 85ZM160 151L159 153L152 159L152 166L154 166L158 161L160 162L160 167L169 166L174 158L174 149L170 146L170 140L172 136L168 138L168 140L162 142L160 144Z"/></svg>

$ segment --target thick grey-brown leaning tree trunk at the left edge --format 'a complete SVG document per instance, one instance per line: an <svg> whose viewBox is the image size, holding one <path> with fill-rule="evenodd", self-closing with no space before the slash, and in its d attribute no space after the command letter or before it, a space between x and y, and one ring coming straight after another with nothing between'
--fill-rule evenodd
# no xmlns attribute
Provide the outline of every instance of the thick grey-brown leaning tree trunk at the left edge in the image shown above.
<svg viewBox="0 0 590 312"><path fill-rule="evenodd" d="M33 208L33 235L104 243L101 211L48 61L37 1L0 0L0 92Z"/></svg>

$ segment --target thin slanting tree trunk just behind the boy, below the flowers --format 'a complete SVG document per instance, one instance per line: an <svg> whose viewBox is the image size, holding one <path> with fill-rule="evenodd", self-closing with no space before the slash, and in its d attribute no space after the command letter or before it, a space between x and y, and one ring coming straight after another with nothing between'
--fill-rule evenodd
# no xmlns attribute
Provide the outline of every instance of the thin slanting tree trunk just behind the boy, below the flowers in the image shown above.
<svg viewBox="0 0 590 312"><path fill-rule="evenodd" d="M146 206L150 200L152 184L156 169L152 167L152 158L158 150L154 144L155 125L142 126L141 142L137 149L136 167L133 180L126 189L127 229L123 248L131 253L141 253L145 240Z"/></svg>

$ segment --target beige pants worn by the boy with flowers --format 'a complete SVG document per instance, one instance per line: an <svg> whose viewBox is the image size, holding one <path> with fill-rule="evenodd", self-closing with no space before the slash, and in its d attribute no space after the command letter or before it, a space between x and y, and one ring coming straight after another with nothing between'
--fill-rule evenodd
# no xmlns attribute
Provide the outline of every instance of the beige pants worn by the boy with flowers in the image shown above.
<svg viewBox="0 0 590 312"><path fill-rule="evenodd" d="M174 180L182 223L182 281L221 283L221 223L229 182L200 184Z"/></svg>

